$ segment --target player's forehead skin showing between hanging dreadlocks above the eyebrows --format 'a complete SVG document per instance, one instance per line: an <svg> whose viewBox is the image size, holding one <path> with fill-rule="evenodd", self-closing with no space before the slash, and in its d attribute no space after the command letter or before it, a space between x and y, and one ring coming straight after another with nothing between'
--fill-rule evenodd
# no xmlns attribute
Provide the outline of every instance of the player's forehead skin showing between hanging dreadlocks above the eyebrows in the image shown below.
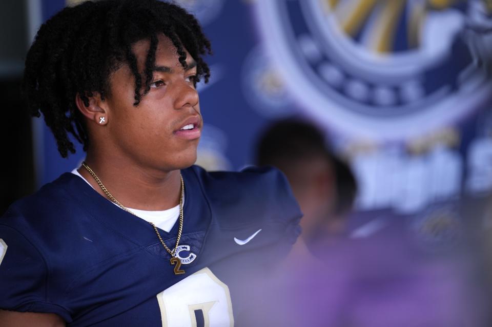
<svg viewBox="0 0 492 327"><path fill-rule="evenodd" d="M181 67L179 63L179 55L176 51L176 47L173 45L172 41L164 34L157 35L157 49L155 51L155 62L157 66L168 66L168 67ZM140 69L144 68L145 61L147 59L147 54L150 48L149 40L137 41L133 46L132 50L137 57L138 66ZM191 60L191 56L186 49L184 49L187 54L187 62Z"/></svg>

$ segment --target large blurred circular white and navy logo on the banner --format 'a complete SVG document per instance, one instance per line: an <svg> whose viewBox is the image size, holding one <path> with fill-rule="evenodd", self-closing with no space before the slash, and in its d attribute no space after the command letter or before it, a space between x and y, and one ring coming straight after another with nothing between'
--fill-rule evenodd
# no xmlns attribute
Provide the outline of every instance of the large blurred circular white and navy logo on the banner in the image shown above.
<svg viewBox="0 0 492 327"><path fill-rule="evenodd" d="M476 4L475 4L476 5ZM461 37L470 2L257 2L265 46L296 100L341 132L401 140L463 117L492 87Z"/></svg>

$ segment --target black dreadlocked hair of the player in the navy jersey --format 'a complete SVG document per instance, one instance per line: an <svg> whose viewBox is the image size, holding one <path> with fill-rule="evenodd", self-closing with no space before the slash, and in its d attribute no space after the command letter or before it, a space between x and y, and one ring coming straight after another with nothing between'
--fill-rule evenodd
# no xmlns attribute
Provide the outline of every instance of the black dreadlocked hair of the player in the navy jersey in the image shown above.
<svg viewBox="0 0 492 327"><path fill-rule="evenodd" d="M197 79L210 78L202 56L211 54L210 41L196 18L184 9L158 0L87 1L67 7L50 18L37 32L26 57L23 91L33 116L43 113L62 157L75 153L69 133L87 151L89 137L83 115L77 109L78 94L84 105L94 92L102 100L109 94L109 76L128 64L135 79L134 106L150 90L157 35L164 34L186 67L185 48L197 63ZM145 68L138 71L132 45L149 40Z"/></svg>

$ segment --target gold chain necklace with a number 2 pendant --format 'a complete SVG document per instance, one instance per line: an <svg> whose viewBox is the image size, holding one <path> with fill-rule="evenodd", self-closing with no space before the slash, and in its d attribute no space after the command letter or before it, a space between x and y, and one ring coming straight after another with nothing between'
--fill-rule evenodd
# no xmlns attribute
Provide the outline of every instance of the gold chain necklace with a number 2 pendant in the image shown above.
<svg viewBox="0 0 492 327"><path fill-rule="evenodd" d="M89 174L91 174L91 176L94 178L94 180L99 185L99 187L101 188L101 190L103 190L103 193L112 202L114 202L121 209L127 211L128 213L132 214L133 216L138 217L131 210L129 210L127 207L125 207L124 205L122 205L118 200L116 200L115 197L113 197L113 195L111 193L109 193L109 191L106 188L106 186L104 186L103 182L101 182L101 180L99 179L99 177L97 177L96 173L91 169L91 167L89 167L86 164L85 161L82 162L82 166L84 168L86 168L87 171L89 171ZM184 274L185 273L184 270L180 270L179 269L181 267L181 260L178 257L176 257L176 250L178 248L179 240L181 239L181 232L183 230L183 196L185 195L185 182L183 181L183 177L181 175L180 175L180 178L181 178L181 194L179 196L179 229L178 229L178 237L176 239L176 246L174 247L174 249L171 250L166 245L166 243L164 243L164 241L160 237L160 233L157 230L157 227L154 225L153 222L149 222L152 225L152 227L154 227L155 233L157 234L157 238L159 239L160 243L164 246L164 248L166 249L166 251L171 255L171 260L170 261L171 261L171 265L174 265L174 274L175 275L180 275L180 274Z"/></svg>

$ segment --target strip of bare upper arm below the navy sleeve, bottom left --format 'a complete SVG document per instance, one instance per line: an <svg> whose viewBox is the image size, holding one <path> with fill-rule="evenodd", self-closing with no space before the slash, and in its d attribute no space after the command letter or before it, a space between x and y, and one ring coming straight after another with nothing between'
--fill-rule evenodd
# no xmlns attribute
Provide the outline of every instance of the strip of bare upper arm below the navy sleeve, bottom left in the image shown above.
<svg viewBox="0 0 492 327"><path fill-rule="evenodd" d="M59 327L65 326L60 316L52 313L15 312L0 310L0 327Z"/></svg>

